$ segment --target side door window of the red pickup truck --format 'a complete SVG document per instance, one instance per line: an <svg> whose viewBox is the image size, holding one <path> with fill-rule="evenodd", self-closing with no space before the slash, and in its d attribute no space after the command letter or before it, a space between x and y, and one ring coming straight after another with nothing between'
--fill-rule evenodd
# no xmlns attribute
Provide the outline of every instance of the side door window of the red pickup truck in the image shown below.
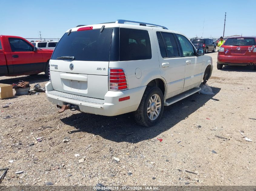
<svg viewBox="0 0 256 191"><path fill-rule="evenodd" d="M33 51L33 47L25 40L18 38L9 38L9 43L13 52L15 51Z"/></svg>

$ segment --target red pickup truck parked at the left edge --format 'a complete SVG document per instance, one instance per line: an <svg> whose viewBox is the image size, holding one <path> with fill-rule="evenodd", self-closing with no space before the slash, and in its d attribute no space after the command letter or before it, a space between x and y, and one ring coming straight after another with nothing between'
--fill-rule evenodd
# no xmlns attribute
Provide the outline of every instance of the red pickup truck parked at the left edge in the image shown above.
<svg viewBox="0 0 256 191"><path fill-rule="evenodd" d="M38 49L22 37L0 35L0 76L49 75L53 50Z"/></svg>

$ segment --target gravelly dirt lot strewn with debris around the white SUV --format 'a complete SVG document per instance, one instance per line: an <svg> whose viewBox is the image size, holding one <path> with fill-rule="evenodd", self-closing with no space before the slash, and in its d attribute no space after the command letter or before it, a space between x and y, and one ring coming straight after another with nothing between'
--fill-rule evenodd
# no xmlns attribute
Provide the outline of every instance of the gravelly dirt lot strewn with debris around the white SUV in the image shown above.
<svg viewBox="0 0 256 191"><path fill-rule="evenodd" d="M255 185L256 72L249 66L217 70L217 53L208 55L215 95L194 94L165 107L151 128L138 126L131 113L57 114L45 93L0 100L0 168L9 168L1 185ZM48 81L39 74L0 77L0 83L19 79L32 86ZM6 115L13 117L2 119Z"/></svg>

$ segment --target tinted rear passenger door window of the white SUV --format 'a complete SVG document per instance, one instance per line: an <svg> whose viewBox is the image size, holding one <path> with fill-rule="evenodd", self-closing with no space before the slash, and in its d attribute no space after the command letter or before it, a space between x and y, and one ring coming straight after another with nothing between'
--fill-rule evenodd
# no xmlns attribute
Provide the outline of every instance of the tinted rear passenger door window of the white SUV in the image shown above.
<svg viewBox="0 0 256 191"><path fill-rule="evenodd" d="M163 38L161 37L161 34ZM159 47L160 47L161 56L163 58L179 56L178 48L172 33L158 32L157 37L158 37L158 43L159 42L161 43L161 44L159 43ZM165 51L166 53L163 53L163 51Z"/></svg>

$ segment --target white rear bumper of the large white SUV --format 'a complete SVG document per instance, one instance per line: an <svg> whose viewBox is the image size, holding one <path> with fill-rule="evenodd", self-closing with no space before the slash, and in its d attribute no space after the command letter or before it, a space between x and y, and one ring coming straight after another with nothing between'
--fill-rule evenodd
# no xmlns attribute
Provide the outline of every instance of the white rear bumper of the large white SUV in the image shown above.
<svg viewBox="0 0 256 191"><path fill-rule="evenodd" d="M137 110L146 86L125 91L108 91L105 94L105 100L76 96L73 94L69 94L70 96L68 96L66 93L54 91L52 82L48 82L45 85L45 89L48 100L53 104L59 106L72 104L78 106L81 112L104 116L116 116ZM119 98L127 96L130 96L129 100L119 101Z"/></svg>

